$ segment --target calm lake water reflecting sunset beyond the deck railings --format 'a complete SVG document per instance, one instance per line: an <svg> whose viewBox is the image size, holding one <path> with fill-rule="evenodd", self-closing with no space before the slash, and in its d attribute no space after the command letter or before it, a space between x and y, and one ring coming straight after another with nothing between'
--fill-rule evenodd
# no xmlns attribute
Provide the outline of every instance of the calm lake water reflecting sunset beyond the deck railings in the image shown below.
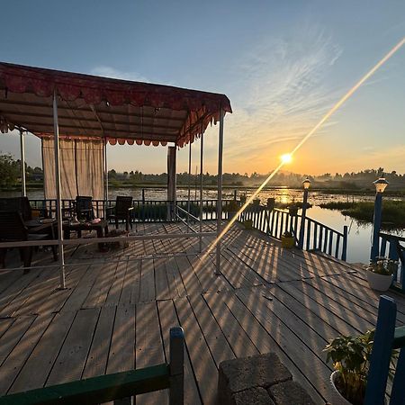
<svg viewBox="0 0 405 405"><path fill-rule="evenodd" d="M234 189L224 188L223 198L233 198ZM238 195L246 194L247 197L253 192L247 190L246 192L238 191ZM21 195L19 192L0 192L2 197L13 197ZM42 190L30 190L27 195L31 199L42 199ZM131 195L134 199L140 200L142 198L142 191L139 188L112 188L109 190L109 198L115 199L116 195ZM186 188L177 189L178 199L187 199L188 190ZM262 191L259 196L261 202L266 203L267 198L273 197L276 202L300 202L302 201L302 190L291 190L288 188L275 188L271 190ZM199 193L191 192L191 198L200 198ZM204 190L204 199L216 199L216 190ZM150 188L145 189L146 200L166 200L166 188ZM348 241L347 241L347 261L349 263L368 263L371 247L371 238L373 227L371 224L358 223L356 220L346 217L340 211L332 211L320 208L318 205L321 202L331 201L374 201L372 195L344 195L344 194L329 194L320 192L310 192L309 202L312 208L307 211L307 216L313 220L329 226L332 229L343 231L344 225L348 227ZM405 231L399 231L399 235L404 236Z"/></svg>

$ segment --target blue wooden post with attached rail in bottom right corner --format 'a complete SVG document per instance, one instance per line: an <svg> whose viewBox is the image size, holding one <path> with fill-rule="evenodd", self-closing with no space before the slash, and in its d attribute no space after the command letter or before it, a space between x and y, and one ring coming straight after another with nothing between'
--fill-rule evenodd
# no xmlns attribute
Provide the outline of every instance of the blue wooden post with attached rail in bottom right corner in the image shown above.
<svg viewBox="0 0 405 405"><path fill-rule="evenodd" d="M390 405L405 405L405 326L395 328L397 305L382 295L365 390L365 405L382 405L386 392L392 350L400 356L392 382Z"/></svg>

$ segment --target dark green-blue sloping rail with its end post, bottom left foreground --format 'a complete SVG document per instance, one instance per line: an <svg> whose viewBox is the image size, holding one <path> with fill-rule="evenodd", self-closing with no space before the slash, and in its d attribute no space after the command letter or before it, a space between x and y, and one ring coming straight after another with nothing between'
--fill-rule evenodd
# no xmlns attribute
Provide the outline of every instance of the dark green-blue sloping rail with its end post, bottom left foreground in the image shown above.
<svg viewBox="0 0 405 405"><path fill-rule="evenodd" d="M32 370L32 373L35 372L36 370ZM130 403L130 397L134 395L166 388L169 389L169 404L183 405L184 333L182 328L170 329L169 364L5 395L0 397L0 405L77 405L78 403L90 405L117 400L120 400L120 403Z"/></svg>

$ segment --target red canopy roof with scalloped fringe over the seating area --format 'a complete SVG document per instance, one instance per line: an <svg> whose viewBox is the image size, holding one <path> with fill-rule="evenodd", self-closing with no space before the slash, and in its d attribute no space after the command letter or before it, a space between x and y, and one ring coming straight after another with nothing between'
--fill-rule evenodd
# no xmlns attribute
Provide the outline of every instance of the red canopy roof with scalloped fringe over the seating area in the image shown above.
<svg viewBox="0 0 405 405"><path fill-rule="evenodd" d="M0 129L53 137L54 91L61 137L112 144L182 147L232 112L224 94L0 62Z"/></svg>

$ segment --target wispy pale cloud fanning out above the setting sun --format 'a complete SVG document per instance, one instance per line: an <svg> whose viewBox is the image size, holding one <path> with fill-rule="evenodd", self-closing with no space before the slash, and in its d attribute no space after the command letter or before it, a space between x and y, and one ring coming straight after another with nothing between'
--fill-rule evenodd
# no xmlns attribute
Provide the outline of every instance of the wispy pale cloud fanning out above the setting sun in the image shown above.
<svg viewBox="0 0 405 405"><path fill-rule="evenodd" d="M229 164L243 156L259 159L275 144L297 143L338 99L340 92L324 83L343 49L317 27L289 35L262 40L236 63Z"/></svg>

